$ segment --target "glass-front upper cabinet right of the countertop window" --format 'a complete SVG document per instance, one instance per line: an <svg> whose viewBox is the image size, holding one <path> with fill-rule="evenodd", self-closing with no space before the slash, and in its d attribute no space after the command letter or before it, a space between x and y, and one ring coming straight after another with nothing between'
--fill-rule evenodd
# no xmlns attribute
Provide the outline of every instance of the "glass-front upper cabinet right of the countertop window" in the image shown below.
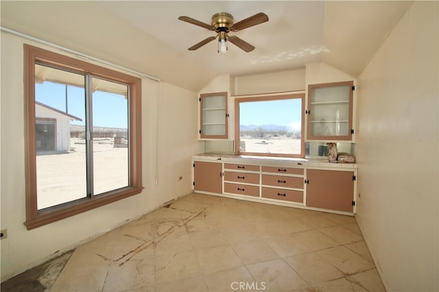
<svg viewBox="0 0 439 292"><path fill-rule="evenodd" d="M309 84L308 140L352 140L353 90L353 81Z"/></svg>

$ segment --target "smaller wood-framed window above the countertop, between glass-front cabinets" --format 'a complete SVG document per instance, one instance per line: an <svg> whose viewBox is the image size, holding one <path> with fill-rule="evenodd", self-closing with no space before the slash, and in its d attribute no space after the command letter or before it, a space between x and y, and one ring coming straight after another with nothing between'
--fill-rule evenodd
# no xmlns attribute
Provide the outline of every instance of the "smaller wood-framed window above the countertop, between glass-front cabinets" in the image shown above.
<svg viewBox="0 0 439 292"><path fill-rule="evenodd" d="M304 157L305 94L235 98L235 153Z"/></svg>

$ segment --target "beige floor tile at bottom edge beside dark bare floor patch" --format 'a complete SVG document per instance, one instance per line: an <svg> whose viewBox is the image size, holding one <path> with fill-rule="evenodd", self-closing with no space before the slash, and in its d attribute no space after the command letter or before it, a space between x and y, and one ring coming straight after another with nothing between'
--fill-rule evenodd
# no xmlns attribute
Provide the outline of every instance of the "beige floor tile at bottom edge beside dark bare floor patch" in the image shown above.
<svg viewBox="0 0 439 292"><path fill-rule="evenodd" d="M50 291L102 291L108 267L81 267L63 271L54 282Z"/></svg>

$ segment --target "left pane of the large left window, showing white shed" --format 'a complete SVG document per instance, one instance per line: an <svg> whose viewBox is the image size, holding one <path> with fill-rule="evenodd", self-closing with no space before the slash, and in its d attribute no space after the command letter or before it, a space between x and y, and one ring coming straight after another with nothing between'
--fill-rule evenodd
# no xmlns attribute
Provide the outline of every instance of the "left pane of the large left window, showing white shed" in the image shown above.
<svg viewBox="0 0 439 292"><path fill-rule="evenodd" d="M35 65L38 210L86 197L84 75ZM77 125L73 130L73 124Z"/></svg>

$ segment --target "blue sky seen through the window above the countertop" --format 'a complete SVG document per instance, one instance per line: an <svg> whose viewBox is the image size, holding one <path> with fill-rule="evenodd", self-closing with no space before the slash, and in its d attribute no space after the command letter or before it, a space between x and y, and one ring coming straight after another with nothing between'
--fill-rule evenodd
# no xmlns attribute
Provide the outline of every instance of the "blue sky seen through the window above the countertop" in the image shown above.
<svg viewBox="0 0 439 292"><path fill-rule="evenodd" d="M285 125L300 130L302 100L249 101L239 103L241 125Z"/></svg>

